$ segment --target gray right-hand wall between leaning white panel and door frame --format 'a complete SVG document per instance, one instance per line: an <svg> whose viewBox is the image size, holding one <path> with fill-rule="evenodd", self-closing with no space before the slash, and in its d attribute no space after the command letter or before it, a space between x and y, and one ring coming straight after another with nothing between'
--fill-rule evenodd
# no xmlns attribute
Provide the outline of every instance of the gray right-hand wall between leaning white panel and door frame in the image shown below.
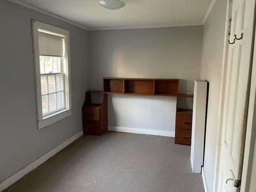
<svg viewBox="0 0 256 192"><path fill-rule="evenodd" d="M214 181L226 4L226 0L216 2L204 25L203 34L201 79L209 82L204 172L209 192L213 192Z"/></svg>

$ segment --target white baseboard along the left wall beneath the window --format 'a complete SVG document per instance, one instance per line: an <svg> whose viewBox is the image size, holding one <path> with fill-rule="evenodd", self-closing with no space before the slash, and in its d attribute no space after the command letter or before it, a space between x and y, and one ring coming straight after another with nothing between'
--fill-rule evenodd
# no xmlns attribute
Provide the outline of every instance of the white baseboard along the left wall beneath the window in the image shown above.
<svg viewBox="0 0 256 192"><path fill-rule="evenodd" d="M28 164L24 168L20 169L16 173L12 174L10 177L6 178L2 182L0 182L0 191L8 188L11 184L18 181L20 178L28 174L30 171L32 171L34 168L38 167L40 164L54 156L56 153L58 153L60 150L68 146L70 143L72 143L74 140L78 139L80 136L83 135L83 131L78 132L74 136L70 137L68 140L62 142L46 154L42 155L40 158L34 160L32 163Z"/></svg>

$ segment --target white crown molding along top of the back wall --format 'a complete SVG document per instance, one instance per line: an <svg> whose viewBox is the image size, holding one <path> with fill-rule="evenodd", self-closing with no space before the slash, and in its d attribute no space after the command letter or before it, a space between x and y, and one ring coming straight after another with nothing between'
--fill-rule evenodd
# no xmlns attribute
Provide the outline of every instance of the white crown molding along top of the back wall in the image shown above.
<svg viewBox="0 0 256 192"><path fill-rule="evenodd" d="M89 30L90 31L95 31L95 30L145 29L145 28L184 27L184 26L197 26L197 25L202 25L202 23L176 24L176 25L103 27L103 28L89 28Z"/></svg>

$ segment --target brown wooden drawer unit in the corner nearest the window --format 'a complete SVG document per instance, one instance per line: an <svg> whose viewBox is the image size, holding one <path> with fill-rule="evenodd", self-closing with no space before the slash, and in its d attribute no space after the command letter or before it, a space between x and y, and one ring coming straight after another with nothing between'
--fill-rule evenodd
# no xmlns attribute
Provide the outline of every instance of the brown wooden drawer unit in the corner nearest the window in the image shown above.
<svg viewBox="0 0 256 192"><path fill-rule="evenodd" d="M102 103L92 103L92 94L102 91L87 91L82 106L83 132L87 135L102 135L108 130L108 95L103 94Z"/></svg>

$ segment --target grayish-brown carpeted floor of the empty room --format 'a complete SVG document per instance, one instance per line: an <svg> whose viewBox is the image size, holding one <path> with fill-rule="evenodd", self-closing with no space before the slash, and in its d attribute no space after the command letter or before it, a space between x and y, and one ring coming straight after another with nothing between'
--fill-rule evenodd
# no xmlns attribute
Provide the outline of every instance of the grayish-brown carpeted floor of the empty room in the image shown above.
<svg viewBox="0 0 256 192"><path fill-rule="evenodd" d="M190 170L190 146L174 144L170 137L107 132L80 137L10 192L204 192L204 188L202 175Z"/></svg>

